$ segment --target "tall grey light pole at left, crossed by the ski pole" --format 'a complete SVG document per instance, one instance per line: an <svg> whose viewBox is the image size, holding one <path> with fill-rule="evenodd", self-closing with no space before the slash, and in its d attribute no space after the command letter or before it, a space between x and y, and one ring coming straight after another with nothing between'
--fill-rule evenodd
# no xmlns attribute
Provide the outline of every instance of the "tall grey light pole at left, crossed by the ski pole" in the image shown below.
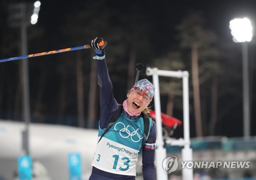
<svg viewBox="0 0 256 180"><path fill-rule="evenodd" d="M21 17L21 36L22 36L22 55L28 54L28 43L27 43L27 24L26 24L26 4L20 4ZM24 150L27 155L29 151L29 123L30 123L30 98L29 98L29 68L28 59L22 60L23 70L23 117L25 121L24 131Z"/></svg>

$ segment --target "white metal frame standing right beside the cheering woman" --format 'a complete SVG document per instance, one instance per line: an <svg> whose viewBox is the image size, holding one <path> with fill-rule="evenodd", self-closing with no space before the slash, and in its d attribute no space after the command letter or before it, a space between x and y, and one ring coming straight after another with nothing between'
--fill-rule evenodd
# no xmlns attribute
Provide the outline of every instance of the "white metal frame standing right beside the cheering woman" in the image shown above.
<svg viewBox="0 0 256 180"><path fill-rule="evenodd" d="M188 89L188 77L187 71L164 71L158 70L157 68L147 68L147 76L153 76L153 84L155 86L155 111L156 111L156 127L157 127L157 149L156 149L156 168L157 168L157 179L165 179L165 172L162 172L163 168L160 169L164 156L166 156L166 149L163 148L163 137L159 129L161 126L161 106L160 106L160 91L159 91L159 76L164 77L176 77L183 78L183 116L184 116L184 141L172 140L173 145L184 146L181 151L183 162L191 162L193 160L193 150L190 148L190 133L189 133L189 89ZM182 179L191 180L193 179L193 168L182 169Z"/></svg>

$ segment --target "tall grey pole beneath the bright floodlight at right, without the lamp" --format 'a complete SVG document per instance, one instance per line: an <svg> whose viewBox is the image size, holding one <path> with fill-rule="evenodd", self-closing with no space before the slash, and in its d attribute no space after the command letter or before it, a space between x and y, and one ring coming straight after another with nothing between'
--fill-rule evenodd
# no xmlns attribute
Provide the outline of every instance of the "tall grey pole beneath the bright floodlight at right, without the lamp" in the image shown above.
<svg viewBox="0 0 256 180"><path fill-rule="evenodd" d="M248 43L242 43L243 53L243 123L244 138L250 136L250 95L249 95L249 63L248 63Z"/></svg>

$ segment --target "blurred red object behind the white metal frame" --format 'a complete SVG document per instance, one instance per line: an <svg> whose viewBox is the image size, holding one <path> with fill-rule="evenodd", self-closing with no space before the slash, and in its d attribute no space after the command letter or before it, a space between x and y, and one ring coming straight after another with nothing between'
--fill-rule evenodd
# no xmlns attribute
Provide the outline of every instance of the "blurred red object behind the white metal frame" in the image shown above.
<svg viewBox="0 0 256 180"><path fill-rule="evenodd" d="M156 113L155 110L150 111L150 113L148 113L148 116L151 117L153 120L156 121ZM162 124L164 126L167 126L169 128L173 128L173 126L180 126L182 124L182 122L174 117L170 117L164 113L161 113L161 119L162 119Z"/></svg>

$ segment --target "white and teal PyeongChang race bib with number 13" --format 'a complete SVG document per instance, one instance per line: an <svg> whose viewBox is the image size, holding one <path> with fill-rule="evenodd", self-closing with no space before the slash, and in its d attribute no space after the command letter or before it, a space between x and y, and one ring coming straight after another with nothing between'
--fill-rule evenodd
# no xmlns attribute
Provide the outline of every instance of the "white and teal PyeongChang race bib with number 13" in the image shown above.
<svg viewBox="0 0 256 180"><path fill-rule="evenodd" d="M98 140L103 131L99 128ZM121 114L97 144L92 166L114 174L136 176L143 132L143 118L130 120Z"/></svg>

